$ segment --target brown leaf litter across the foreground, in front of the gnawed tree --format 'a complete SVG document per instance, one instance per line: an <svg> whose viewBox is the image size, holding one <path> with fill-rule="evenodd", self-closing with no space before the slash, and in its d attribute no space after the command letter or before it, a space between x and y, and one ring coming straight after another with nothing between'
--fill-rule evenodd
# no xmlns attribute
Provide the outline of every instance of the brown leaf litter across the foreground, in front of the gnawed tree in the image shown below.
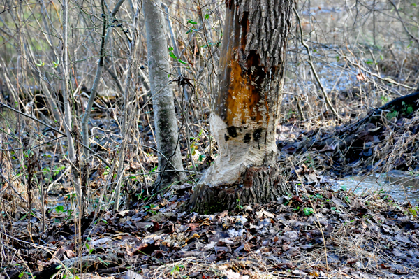
<svg viewBox="0 0 419 279"><path fill-rule="evenodd" d="M185 211L189 193L173 190L152 206L106 212L98 222L91 215L82 220L82 242L63 213L45 233L36 232L39 218L31 234L27 221L10 220L1 224L10 250L2 278L417 278L416 208L300 175L299 194L234 212Z"/></svg>

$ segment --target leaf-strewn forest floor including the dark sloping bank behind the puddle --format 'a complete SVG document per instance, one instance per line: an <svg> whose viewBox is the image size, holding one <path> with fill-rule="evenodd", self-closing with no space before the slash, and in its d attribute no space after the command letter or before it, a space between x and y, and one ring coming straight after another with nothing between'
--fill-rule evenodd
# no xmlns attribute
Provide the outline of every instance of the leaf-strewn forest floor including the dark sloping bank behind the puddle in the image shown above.
<svg viewBox="0 0 419 279"><path fill-rule="evenodd" d="M397 122L388 117L394 110ZM418 133L416 110L399 99L332 131L281 126L288 139L279 138L279 165L294 190L265 205L198 215L182 207L192 192L184 183L137 196L126 210L90 210L77 226L68 201L45 218L19 206L15 217L4 210L8 265L0 278L418 278L419 208L383 189L355 194L332 179L416 171L409 169L418 166L416 142L406 136Z"/></svg>

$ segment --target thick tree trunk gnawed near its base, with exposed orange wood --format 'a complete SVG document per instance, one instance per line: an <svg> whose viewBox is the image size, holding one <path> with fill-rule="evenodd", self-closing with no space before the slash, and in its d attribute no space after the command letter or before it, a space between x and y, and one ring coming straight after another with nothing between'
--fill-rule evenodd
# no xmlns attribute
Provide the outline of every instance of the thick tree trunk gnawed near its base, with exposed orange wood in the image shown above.
<svg viewBox="0 0 419 279"><path fill-rule="evenodd" d="M292 4L226 1L219 92L210 117L219 156L193 192L191 205L200 213L265 203L287 190L275 134Z"/></svg>

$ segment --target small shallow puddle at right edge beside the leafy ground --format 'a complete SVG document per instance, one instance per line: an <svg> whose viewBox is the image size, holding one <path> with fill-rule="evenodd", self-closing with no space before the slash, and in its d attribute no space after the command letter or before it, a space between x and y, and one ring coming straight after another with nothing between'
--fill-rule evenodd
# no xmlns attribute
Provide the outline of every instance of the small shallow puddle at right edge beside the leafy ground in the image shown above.
<svg viewBox="0 0 419 279"><path fill-rule="evenodd" d="M355 193L384 190L393 199L403 203L409 200L412 205L419 205L419 175L409 175L404 171L391 171L374 176L348 176L336 180L335 188L346 187Z"/></svg>

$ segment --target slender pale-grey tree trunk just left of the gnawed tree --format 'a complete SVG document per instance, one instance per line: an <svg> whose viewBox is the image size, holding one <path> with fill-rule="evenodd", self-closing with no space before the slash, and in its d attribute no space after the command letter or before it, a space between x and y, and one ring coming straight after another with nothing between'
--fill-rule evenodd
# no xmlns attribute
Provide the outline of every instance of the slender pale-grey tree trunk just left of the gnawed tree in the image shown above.
<svg viewBox="0 0 419 279"><path fill-rule="evenodd" d="M159 178L156 186L166 187L175 180L185 177L182 156L178 144L179 133L175 115L173 90L169 83L168 42L164 34L165 20L160 0L145 0L145 29L147 33L147 53L149 81L152 90L154 126L159 150ZM167 160L169 159L169 162ZM173 171L173 170L177 170Z"/></svg>

